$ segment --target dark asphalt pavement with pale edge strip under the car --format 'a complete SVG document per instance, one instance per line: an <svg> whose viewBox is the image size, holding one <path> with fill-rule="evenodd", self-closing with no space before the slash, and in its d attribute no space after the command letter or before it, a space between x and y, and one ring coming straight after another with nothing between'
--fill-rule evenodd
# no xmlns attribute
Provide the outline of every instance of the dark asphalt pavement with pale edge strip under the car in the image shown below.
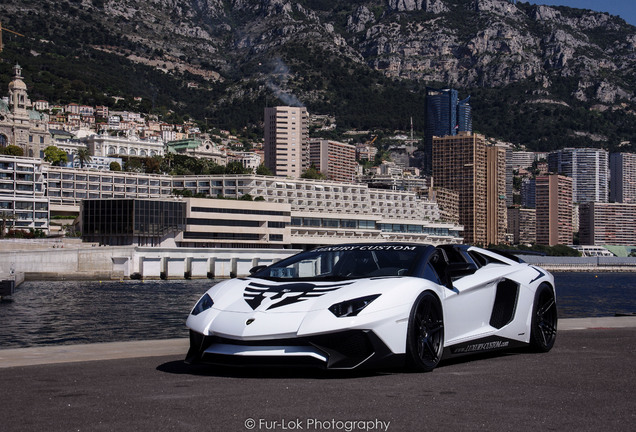
<svg viewBox="0 0 636 432"><path fill-rule="evenodd" d="M184 340L0 350L0 430L634 430L635 319L422 374L192 367Z"/></svg>

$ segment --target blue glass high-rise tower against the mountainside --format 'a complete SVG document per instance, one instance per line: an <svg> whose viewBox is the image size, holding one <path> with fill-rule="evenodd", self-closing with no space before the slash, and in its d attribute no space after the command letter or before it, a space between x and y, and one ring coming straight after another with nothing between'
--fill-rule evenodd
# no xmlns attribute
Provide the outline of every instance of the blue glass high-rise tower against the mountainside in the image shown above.
<svg viewBox="0 0 636 432"><path fill-rule="evenodd" d="M425 170L432 169L433 137L472 132L470 96L459 100L454 89L426 89L426 131L424 137Z"/></svg>

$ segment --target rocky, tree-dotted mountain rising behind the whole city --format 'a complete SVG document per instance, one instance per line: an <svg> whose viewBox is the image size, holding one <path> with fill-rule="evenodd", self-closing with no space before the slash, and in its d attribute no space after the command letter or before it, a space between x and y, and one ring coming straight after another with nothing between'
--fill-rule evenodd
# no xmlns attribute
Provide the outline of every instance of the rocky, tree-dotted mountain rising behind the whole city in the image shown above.
<svg viewBox="0 0 636 432"><path fill-rule="evenodd" d="M473 128L535 150L636 151L636 27L507 0L4 0L2 88L225 128L303 104L358 129L424 127L427 86L471 95Z"/></svg>

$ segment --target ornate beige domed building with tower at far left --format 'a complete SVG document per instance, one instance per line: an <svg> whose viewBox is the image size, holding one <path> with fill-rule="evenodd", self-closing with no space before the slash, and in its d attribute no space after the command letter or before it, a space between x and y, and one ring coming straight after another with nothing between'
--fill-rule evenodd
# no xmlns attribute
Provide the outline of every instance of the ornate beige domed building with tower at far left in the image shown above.
<svg viewBox="0 0 636 432"><path fill-rule="evenodd" d="M9 83L9 96L0 100L0 147L15 145L24 156L42 158L51 143L48 120L31 110L27 87L22 80L22 68L15 65L13 80Z"/></svg>

